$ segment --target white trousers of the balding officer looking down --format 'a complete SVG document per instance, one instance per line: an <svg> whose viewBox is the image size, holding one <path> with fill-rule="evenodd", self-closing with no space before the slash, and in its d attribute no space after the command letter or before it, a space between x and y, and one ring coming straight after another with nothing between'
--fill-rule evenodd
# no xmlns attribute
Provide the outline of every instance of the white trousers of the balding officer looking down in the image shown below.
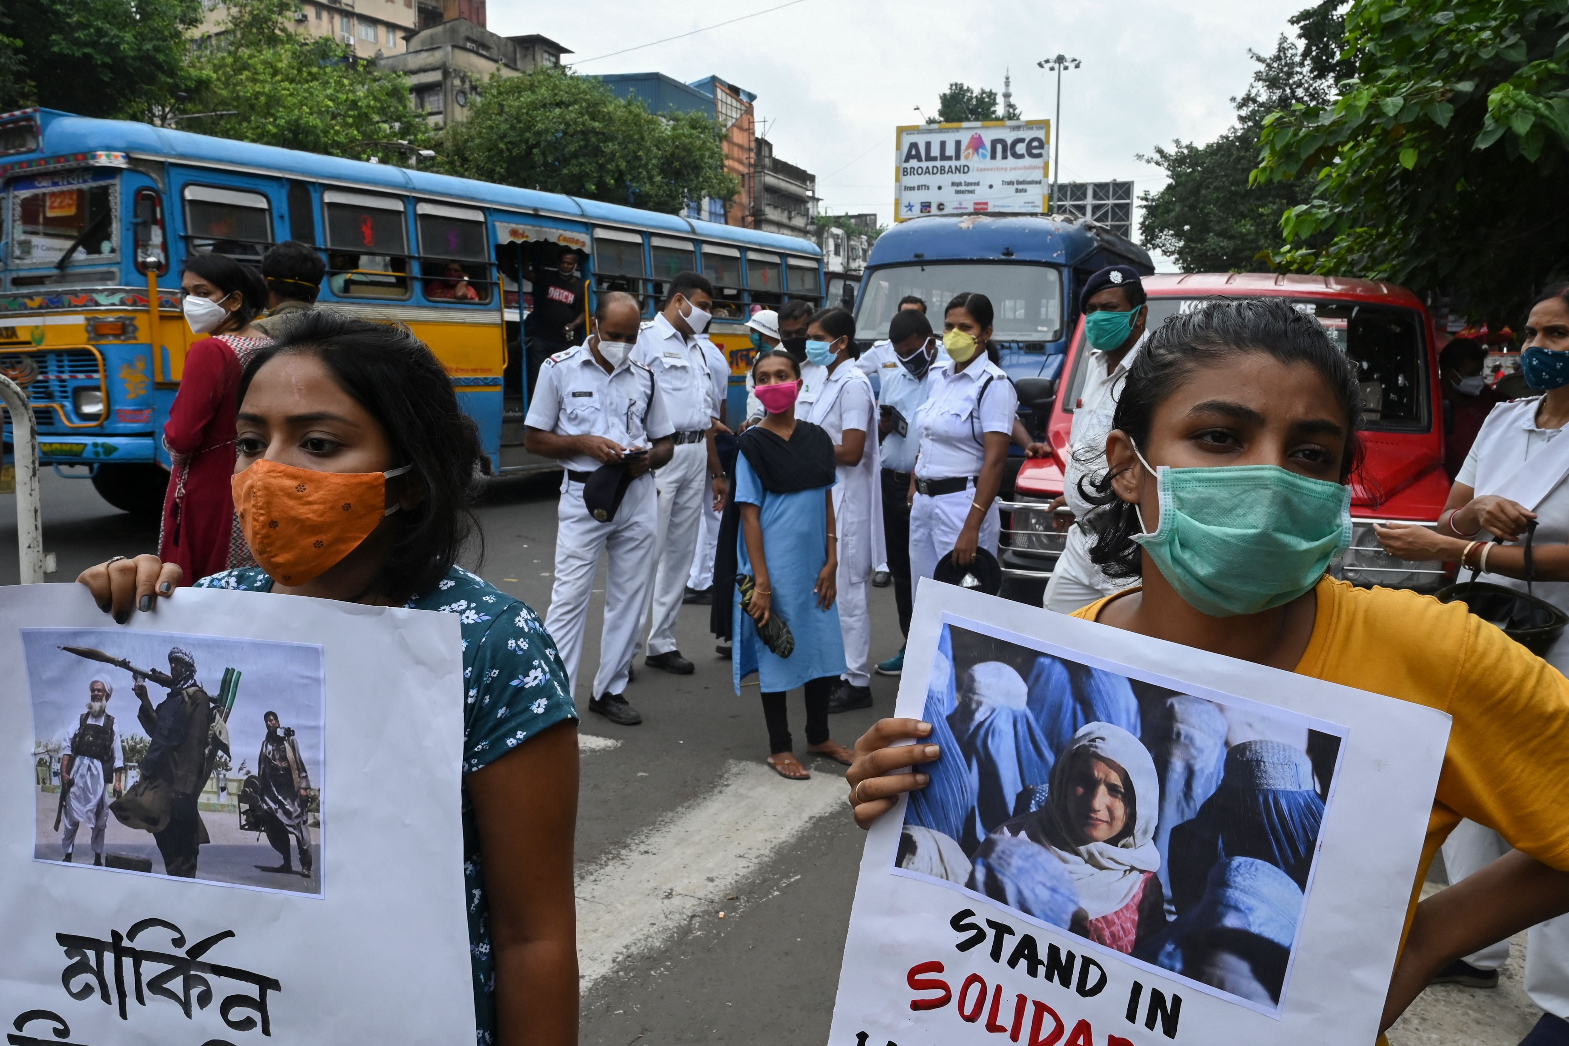
<svg viewBox="0 0 1569 1046"><path fill-rule="evenodd" d="M628 668L637 649L637 624L648 599L654 560L654 480L640 475L626 488L621 507L610 522L599 522L584 505L584 485L566 480L555 508L555 582L544 630L566 665L573 695L577 693L577 665L588 627L588 596L599 569L599 552L610 557L604 583L604 632L599 637L599 671L590 696L626 690Z"/></svg>

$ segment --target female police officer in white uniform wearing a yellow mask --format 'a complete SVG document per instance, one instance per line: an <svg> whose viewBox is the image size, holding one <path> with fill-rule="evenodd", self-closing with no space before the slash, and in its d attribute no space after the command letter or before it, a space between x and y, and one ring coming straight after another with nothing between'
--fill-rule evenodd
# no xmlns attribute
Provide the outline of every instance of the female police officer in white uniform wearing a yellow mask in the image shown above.
<svg viewBox="0 0 1569 1046"><path fill-rule="evenodd" d="M913 577L932 577L949 552L960 563L977 547L996 555L996 492L1018 420L1018 394L987 353L992 301L959 295L943 311L943 328L952 362L932 369L926 403L912 423L919 434L910 503Z"/></svg>

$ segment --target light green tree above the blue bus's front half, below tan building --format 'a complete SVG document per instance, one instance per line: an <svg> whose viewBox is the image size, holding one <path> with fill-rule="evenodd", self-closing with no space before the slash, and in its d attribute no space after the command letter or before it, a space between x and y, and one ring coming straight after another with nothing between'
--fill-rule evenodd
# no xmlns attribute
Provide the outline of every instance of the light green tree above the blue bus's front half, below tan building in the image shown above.
<svg viewBox="0 0 1569 1046"><path fill-rule="evenodd" d="M431 140L408 83L326 36L292 28L298 0L229 0L185 69L179 125L204 135L410 165Z"/></svg>

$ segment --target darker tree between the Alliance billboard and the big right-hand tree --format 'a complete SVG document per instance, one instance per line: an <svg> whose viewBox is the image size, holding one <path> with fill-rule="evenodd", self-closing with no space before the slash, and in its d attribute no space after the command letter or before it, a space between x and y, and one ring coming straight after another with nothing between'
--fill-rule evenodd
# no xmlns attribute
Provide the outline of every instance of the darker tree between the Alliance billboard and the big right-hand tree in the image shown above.
<svg viewBox="0 0 1569 1046"><path fill-rule="evenodd" d="M1280 243L1280 212L1305 201L1312 187L1249 187L1249 174L1269 113L1329 99L1331 85L1315 72L1310 55L1312 44L1280 36L1272 55L1252 55L1258 63L1252 85L1232 99L1236 125L1208 144L1175 141L1170 149L1156 146L1155 155L1139 157L1169 179L1158 193L1139 198L1144 246L1170 256L1189 273L1269 268L1271 249Z"/></svg>

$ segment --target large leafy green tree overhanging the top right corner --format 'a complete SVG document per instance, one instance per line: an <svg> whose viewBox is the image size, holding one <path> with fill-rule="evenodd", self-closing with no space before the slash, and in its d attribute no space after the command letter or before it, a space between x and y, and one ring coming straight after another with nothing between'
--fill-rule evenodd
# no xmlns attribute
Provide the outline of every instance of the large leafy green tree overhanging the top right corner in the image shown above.
<svg viewBox="0 0 1569 1046"><path fill-rule="evenodd" d="M1254 183L1313 185L1276 263L1516 318L1569 256L1566 25L1569 0L1356 0L1354 77L1265 121Z"/></svg>

